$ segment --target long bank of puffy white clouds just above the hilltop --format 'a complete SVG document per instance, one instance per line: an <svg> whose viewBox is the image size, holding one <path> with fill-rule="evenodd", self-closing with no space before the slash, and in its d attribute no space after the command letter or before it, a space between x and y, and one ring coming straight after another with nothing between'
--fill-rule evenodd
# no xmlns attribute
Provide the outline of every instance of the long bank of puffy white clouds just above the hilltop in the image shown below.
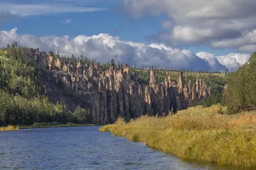
<svg viewBox="0 0 256 170"><path fill-rule="evenodd" d="M234 71L249 55L243 53L228 54L216 57L212 53L193 53L191 50L180 50L171 46L152 43L136 43L122 41L109 34L94 36L79 35L38 37L30 34L17 34L17 28L10 31L0 31L0 46L8 43L17 43L21 46L40 48L40 50L57 52L62 55L86 55L90 59L107 62L111 59L140 67L166 67L172 69L193 69L195 71L225 71L226 67Z"/></svg>

